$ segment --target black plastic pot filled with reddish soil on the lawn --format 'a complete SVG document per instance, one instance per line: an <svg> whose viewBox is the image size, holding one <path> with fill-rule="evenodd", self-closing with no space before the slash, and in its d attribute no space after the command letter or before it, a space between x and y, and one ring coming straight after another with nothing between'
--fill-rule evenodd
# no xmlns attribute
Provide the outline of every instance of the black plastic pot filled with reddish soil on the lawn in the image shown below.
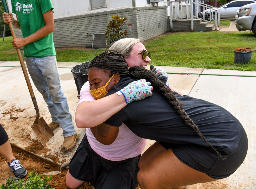
<svg viewBox="0 0 256 189"><path fill-rule="evenodd" d="M234 62L246 64L251 60L251 54L253 53L253 49L250 48L236 48L234 51Z"/></svg>

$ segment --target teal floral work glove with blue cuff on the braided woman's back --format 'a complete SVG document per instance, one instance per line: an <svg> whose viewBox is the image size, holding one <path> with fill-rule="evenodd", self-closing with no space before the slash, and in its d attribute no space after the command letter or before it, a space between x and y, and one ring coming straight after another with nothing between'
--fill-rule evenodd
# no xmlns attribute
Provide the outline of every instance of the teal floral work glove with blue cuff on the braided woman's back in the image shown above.
<svg viewBox="0 0 256 189"><path fill-rule="evenodd" d="M121 89L121 93L125 97L127 104L134 100L142 100L148 96L152 96L153 87L150 86L150 82L146 79L140 79L129 83L126 87Z"/></svg>

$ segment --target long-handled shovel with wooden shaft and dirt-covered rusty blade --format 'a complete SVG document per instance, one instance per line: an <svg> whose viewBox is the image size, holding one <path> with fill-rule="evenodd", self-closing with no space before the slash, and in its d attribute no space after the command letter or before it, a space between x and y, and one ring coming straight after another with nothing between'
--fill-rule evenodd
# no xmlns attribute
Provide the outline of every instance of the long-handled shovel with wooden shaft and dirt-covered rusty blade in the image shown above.
<svg viewBox="0 0 256 189"><path fill-rule="evenodd" d="M3 3L3 7L5 9L5 12L9 12L6 0L2 0ZM13 24L11 22L9 22L9 27L11 30L11 35L13 36L13 39L16 39L16 34L13 28ZM43 146L45 146L46 142L52 137L54 136L53 131L51 130L51 128L49 127L49 125L45 122L45 120L43 119L43 117L39 118L39 109L37 106L37 100L35 99L35 95L31 86L31 83L29 81L29 75L27 74L27 70L26 70L26 66L24 64L22 55L21 55L21 50L18 48L17 50L17 54L19 57L19 62L21 63L21 68L24 74L24 77L26 79L26 83L27 83L27 87L29 88L29 93L32 99L32 102L34 104L35 107L35 111L37 113L37 117L33 123L33 125L31 126L31 128L33 129L33 131L35 132L35 134L37 135L38 139L40 140L40 142L42 143Z"/></svg>

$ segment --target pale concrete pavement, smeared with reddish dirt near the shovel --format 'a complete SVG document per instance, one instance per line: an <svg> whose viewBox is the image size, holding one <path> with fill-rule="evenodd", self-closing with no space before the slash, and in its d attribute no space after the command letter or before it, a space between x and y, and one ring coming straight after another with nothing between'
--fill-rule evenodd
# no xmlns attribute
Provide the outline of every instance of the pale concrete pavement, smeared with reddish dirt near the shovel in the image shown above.
<svg viewBox="0 0 256 189"><path fill-rule="evenodd" d="M76 62L58 62L58 67L72 67ZM70 161L78 144L85 134L85 129L76 128L81 135L76 146L63 153L60 146L63 142L62 129L54 131L45 148L38 142L31 129L35 119L35 110L21 68L4 67L20 66L19 62L0 62L0 120L9 135L10 142L38 156L50 161L63 164ZM256 72L236 70L217 70L202 68L163 67L166 72L174 73L203 73L203 74L229 74L229 75L256 75ZM148 68L149 69L149 66ZM67 97L70 113L73 116L77 106L77 89L70 69L59 68L59 76L64 94ZM229 178L211 183L195 184L191 188L256 188L256 151L255 132L256 123L256 77L213 76L213 75L180 75L169 74L170 85L180 89L183 94L200 98L218 104L231 112L242 123L247 132L249 149L247 157L237 171ZM40 115L47 123L51 121L50 114L42 95L31 82L37 99ZM220 133L221 134L221 133ZM147 140L146 149L154 141ZM146 150L145 149L145 150Z"/></svg>

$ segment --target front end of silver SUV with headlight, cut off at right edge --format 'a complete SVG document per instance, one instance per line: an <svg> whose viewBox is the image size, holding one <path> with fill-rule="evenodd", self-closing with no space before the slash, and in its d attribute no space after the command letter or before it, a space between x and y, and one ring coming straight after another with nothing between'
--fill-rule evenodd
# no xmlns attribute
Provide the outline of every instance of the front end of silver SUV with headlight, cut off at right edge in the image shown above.
<svg viewBox="0 0 256 189"><path fill-rule="evenodd" d="M252 30L256 36L256 3L250 3L240 8L235 26L239 31Z"/></svg>

